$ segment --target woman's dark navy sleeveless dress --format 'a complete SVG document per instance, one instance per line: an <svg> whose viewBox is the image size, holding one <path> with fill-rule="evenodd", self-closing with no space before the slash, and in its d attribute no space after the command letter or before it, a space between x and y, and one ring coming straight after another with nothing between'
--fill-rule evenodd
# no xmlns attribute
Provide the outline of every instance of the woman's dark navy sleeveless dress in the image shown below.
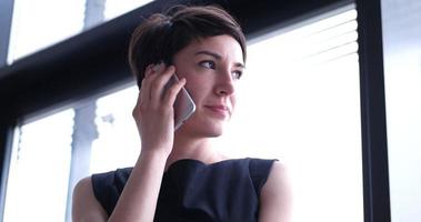
<svg viewBox="0 0 421 222"><path fill-rule="evenodd" d="M258 221L259 196L274 160L233 159L204 164L179 160L164 172L156 222ZM132 168L92 175L97 200L110 215Z"/></svg>

